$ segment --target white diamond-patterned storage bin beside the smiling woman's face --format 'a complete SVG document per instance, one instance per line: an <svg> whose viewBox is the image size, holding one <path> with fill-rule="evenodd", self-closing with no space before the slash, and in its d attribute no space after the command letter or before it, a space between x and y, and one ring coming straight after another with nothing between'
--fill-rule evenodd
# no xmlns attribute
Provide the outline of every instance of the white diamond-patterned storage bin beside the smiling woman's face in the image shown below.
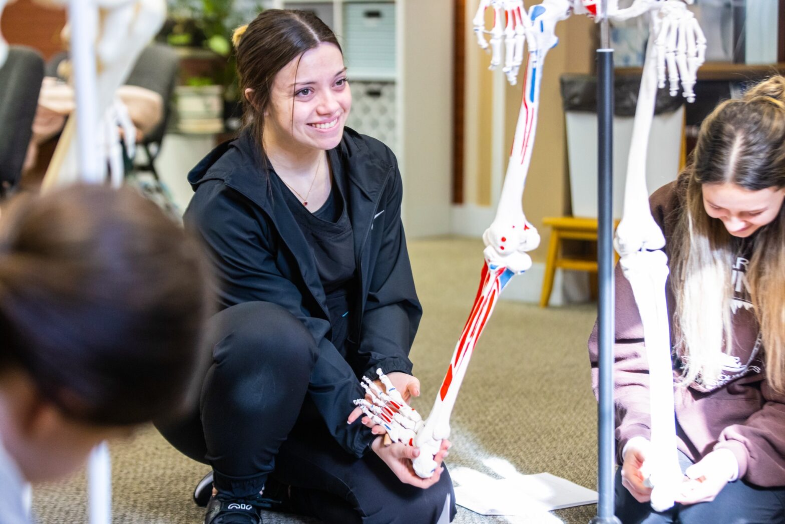
<svg viewBox="0 0 785 524"><path fill-rule="evenodd" d="M346 125L396 151L396 96L393 82L352 82L352 112Z"/></svg>

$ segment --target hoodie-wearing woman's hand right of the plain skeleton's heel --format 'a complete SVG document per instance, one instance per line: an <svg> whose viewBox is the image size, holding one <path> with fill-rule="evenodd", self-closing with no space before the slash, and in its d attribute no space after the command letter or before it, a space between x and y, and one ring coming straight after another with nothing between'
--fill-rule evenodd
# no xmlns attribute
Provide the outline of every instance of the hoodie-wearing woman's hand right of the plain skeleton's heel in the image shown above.
<svg viewBox="0 0 785 524"><path fill-rule="evenodd" d="M739 474L739 463L729 449L717 449L688 467L685 474L676 501L681 504L711 502L725 484Z"/></svg>

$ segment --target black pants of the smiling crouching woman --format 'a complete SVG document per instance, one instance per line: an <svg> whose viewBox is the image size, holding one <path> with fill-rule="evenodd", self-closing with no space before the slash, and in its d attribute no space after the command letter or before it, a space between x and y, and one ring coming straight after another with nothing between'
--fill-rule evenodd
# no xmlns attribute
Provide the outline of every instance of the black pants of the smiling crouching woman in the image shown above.
<svg viewBox="0 0 785 524"><path fill-rule="evenodd" d="M436 522L450 495L455 516L446 470L429 489L408 486L374 452L357 459L330 436L306 396L316 343L287 310L269 302L232 306L212 319L209 338L213 364L199 405L159 431L181 453L210 464L221 492L247 497L272 477L293 486L292 502L307 515L367 524Z"/></svg>

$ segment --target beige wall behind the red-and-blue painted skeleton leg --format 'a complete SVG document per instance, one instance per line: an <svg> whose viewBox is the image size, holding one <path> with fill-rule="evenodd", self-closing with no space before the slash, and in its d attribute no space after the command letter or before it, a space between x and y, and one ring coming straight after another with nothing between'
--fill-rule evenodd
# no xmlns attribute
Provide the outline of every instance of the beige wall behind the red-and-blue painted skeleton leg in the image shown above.
<svg viewBox="0 0 785 524"><path fill-rule="evenodd" d="M473 19L477 3L477 0L467 2L467 20ZM525 3L529 7L539 2L528 0ZM594 25L586 16L571 16L557 25L556 32L560 42L548 53L543 68L536 142L524 192L526 216L542 234L541 247L532 253L532 258L540 262L545 260L550 233L542 228L542 218L564 214L569 201L566 134L559 77L567 72L591 71L595 49ZM466 46L466 203L490 206L491 163L495 153L491 143L493 73L487 69L490 57L479 50L473 35L467 38ZM504 90L505 158L509 155L509 148L513 143L523 83L524 71L521 71L518 85L506 85ZM477 115L472 121L473 112ZM506 168L506 160L504 167Z"/></svg>

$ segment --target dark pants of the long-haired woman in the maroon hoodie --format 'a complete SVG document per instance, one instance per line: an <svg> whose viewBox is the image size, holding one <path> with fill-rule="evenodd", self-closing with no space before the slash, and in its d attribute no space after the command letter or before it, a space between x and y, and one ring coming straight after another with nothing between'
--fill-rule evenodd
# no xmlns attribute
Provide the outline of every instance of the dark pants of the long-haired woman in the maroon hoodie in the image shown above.
<svg viewBox="0 0 785 524"><path fill-rule="evenodd" d="M692 462L679 452L681 471ZM638 502L622 486L622 468L616 471L616 516L622 524L777 524L785 522L785 488L761 488L749 482L728 482L711 502L676 504L668 511L654 511Z"/></svg>

